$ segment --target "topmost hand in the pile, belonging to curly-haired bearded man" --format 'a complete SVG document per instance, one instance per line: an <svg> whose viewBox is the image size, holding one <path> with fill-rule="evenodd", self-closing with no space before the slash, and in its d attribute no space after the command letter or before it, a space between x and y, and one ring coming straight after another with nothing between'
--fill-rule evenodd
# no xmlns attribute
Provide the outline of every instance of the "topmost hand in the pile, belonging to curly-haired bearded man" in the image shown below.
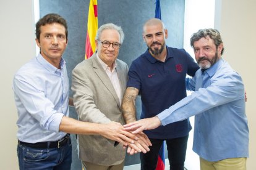
<svg viewBox="0 0 256 170"><path fill-rule="evenodd" d="M140 119L129 124L125 124L124 127L127 131L133 131L132 134L138 134L144 130L155 129L161 125L160 119L155 116L153 118Z"/></svg>

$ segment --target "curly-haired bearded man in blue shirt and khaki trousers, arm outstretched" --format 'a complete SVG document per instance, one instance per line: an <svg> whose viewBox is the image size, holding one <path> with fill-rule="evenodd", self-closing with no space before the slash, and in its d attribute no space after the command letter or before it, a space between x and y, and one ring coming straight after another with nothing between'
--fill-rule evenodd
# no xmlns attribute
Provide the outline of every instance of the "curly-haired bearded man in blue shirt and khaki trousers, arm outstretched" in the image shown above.
<svg viewBox="0 0 256 170"><path fill-rule="evenodd" d="M242 78L221 58L224 47L217 30L199 30L190 45L201 68L187 79L187 89L195 92L157 116L125 127L137 133L195 115L193 150L200 168L246 169L249 129Z"/></svg>

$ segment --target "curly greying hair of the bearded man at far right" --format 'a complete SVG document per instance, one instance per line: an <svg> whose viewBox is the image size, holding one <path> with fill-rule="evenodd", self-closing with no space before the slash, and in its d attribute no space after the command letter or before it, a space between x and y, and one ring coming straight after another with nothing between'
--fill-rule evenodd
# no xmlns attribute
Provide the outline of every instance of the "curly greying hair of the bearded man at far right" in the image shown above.
<svg viewBox="0 0 256 170"><path fill-rule="evenodd" d="M223 43L220 32L216 29L208 28L208 29L198 30L197 33L192 34L190 38L190 46L194 47L195 41L198 41L201 38L207 38L207 36L213 39L216 47L220 46L220 44ZM221 55L223 55L223 52L224 52L224 47L221 51Z"/></svg>

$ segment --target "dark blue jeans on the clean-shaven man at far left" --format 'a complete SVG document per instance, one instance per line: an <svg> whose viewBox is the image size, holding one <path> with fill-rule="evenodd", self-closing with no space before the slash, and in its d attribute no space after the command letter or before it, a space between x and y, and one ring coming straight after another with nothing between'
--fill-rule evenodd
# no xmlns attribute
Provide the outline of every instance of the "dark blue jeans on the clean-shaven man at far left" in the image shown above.
<svg viewBox="0 0 256 170"><path fill-rule="evenodd" d="M72 161L71 140L60 148L30 148L18 144L20 170L68 170Z"/></svg>

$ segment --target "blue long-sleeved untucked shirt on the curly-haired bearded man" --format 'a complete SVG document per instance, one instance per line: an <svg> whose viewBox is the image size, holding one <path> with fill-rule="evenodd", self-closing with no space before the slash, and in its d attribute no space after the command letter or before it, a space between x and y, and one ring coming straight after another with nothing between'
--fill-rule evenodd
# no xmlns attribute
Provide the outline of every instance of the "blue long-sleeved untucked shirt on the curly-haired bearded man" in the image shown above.
<svg viewBox="0 0 256 170"><path fill-rule="evenodd" d="M244 85L227 62L220 59L188 79L195 91L158 115L163 125L195 115L193 150L207 161L249 157L249 129Z"/></svg>

